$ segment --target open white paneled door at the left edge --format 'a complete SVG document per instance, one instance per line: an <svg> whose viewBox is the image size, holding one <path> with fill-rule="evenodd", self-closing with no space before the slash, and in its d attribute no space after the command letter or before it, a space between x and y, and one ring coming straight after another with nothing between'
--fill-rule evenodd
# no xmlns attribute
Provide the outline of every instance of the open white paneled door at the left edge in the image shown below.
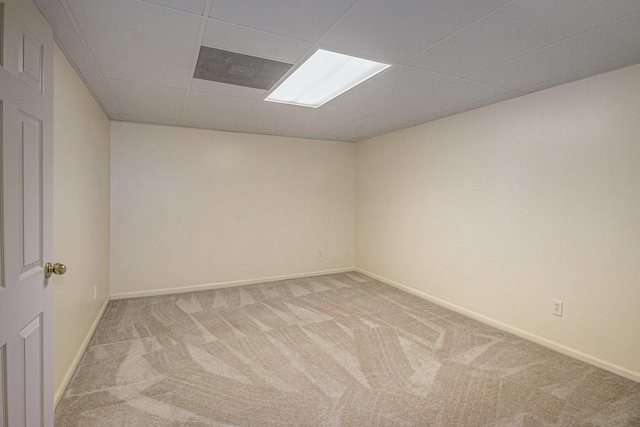
<svg viewBox="0 0 640 427"><path fill-rule="evenodd" d="M0 8L0 427L53 426L53 35L31 0Z"/></svg>

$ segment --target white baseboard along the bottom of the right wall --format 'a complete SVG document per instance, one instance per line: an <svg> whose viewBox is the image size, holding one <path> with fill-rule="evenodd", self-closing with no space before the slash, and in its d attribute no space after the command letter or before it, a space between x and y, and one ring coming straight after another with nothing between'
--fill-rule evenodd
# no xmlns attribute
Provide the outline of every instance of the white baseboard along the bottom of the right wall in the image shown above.
<svg viewBox="0 0 640 427"><path fill-rule="evenodd" d="M635 372L630 369L624 368L622 366L618 366L616 364L607 362L605 360L599 359L597 357L591 356L589 354L583 353L579 350L573 349L571 347L567 347L555 341L551 341L547 338L541 337L539 335L532 334L530 332L524 331L522 329L518 329L516 327L510 326L506 323L502 323L491 317L484 316L482 314L476 313L474 311L468 310L466 308L460 307L458 305L452 304L440 298L436 298L432 295L426 294L422 291L418 291L409 286L394 282L393 280L389 280L385 277L378 276L377 274L371 273L370 271L364 270L362 268L355 268L355 271L358 273L362 273L366 276L369 276L373 279L376 279L380 282L386 283L388 285L393 286L394 288L401 289L410 294L413 294L417 297L425 299L429 302L437 304L441 307L448 308L449 310L455 311L457 313L463 314L467 317L470 317L474 320L487 324L489 326L493 326L496 329L500 329L502 331L508 332L510 334L516 335L520 338L524 338L528 341L532 341L536 344L540 344L544 347L547 347L551 350L557 351L558 353L564 354L565 356L572 357L574 359L578 359L582 362L588 363L593 366L597 366L598 368L602 368L609 372L613 372L614 374L620 375L621 377L628 378L630 380L640 382L640 372Z"/></svg>

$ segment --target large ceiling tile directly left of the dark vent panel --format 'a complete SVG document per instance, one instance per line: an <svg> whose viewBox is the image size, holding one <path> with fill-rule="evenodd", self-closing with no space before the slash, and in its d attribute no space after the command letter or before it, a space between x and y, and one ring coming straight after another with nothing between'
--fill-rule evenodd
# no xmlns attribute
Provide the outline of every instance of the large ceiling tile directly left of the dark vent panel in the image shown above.
<svg viewBox="0 0 640 427"><path fill-rule="evenodd" d="M67 0L105 77L186 88L201 18L128 0Z"/></svg>

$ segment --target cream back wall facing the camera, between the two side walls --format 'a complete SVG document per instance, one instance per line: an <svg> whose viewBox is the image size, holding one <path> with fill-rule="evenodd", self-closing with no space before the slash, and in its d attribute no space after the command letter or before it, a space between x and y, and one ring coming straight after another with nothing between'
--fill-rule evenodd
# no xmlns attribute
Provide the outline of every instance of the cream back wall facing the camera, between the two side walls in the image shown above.
<svg viewBox="0 0 640 427"><path fill-rule="evenodd" d="M353 267L353 144L119 122L111 136L115 298Z"/></svg>

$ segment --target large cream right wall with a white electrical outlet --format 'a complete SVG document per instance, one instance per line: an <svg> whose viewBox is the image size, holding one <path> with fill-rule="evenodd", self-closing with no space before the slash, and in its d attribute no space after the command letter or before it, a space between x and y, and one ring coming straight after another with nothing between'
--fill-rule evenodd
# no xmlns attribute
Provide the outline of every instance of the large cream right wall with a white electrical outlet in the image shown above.
<svg viewBox="0 0 640 427"><path fill-rule="evenodd" d="M357 143L356 266L639 381L640 66Z"/></svg>

